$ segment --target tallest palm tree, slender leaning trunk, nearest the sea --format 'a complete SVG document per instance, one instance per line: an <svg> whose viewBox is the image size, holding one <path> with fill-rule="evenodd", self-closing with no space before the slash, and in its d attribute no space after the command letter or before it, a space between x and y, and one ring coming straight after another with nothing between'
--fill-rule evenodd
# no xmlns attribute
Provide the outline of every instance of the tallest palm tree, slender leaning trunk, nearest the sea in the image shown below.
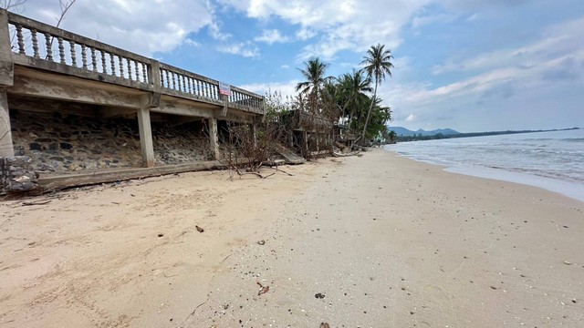
<svg viewBox="0 0 584 328"><path fill-rule="evenodd" d="M381 44L371 46L370 49L367 50L367 56L363 56L363 60L360 63L361 65L365 65L364 69L367 71L367 76L375 78L375 89L373 91L373 97L371 98L369 111L367 112L367 118L365 119L365 126L363 126L361 143L365 140L365 131L369 124L371 108L373 108L374 100L377 98L377 87L381 84L381 81L385 79L386 74L391 77L391 68L393 68L391 59L393 59L393 56L391 56L391 51L385 50L384 47L385 46Z"/></svg>

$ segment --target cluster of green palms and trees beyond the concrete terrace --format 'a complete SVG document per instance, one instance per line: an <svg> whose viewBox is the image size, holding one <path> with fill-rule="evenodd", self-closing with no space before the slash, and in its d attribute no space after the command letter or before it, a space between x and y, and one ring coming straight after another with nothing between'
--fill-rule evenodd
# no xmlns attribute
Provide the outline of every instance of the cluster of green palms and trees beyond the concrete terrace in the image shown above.
<svg viewBox="0 0 584 328"><path fill-rule="evenodd" d="M327 75L328 63L311 58L298 68L303 80L297 83L297 95L283 102L266 101L267 107L276 112L298 109L311 118L347 128L348 135L357 136L359 131L363 143L374 138L389 141L386 123L391 120L391 108L381 105L377 88L385 77L391 77L392 58L384 46L371 46L360 63L362 69L339 77ZM268 96L275 100L274 94ZM285 108L278 108L278 103L286 103Z"/></svg>

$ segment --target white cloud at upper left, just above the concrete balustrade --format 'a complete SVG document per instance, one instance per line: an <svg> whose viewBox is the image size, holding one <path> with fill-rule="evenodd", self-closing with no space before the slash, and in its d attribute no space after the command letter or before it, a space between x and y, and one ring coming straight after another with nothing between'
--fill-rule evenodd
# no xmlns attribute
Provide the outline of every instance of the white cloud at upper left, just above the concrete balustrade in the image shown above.
<svg viewBox="0 0 584 328"><path fill-rule="evenodd" d="M26 1L24 15L55 25L58 2ZM168 52L187 41L190 33L209 26L218 32L206 0L100 0L72 5L61 27L82 36L130 50L142 56ZM193 41L193 40L192 40Z"/></svg>

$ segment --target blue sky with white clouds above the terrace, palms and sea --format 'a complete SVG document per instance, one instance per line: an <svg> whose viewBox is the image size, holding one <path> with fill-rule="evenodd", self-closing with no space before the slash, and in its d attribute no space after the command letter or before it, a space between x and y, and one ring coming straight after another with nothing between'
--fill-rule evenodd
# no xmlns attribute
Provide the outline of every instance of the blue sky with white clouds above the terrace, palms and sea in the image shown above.
<svg viewBox="0 0 584 328"><path fill-rule="evenodd" d="M58 0L19 14L55 25ZM259 94L295 94L314 57L339 77L391 50L391 126L584 128L582 0L77 0L68 31Z"/></svg>

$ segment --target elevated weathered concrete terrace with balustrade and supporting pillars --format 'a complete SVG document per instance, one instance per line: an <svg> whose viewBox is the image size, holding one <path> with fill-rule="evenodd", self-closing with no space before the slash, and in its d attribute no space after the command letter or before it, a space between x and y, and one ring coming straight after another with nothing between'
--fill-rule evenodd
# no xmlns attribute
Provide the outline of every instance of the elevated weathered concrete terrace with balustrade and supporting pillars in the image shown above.
<svg viewBox="0 0 584 328"><path fill-rule="evenodd" d="M253 127L265 114L264 97L255 93L0 10L0 158L15 154L9 100L30 99L136 118L145 168L156 164L151 114L177 123L205 119L214 159L218 120Z"/></svg>

